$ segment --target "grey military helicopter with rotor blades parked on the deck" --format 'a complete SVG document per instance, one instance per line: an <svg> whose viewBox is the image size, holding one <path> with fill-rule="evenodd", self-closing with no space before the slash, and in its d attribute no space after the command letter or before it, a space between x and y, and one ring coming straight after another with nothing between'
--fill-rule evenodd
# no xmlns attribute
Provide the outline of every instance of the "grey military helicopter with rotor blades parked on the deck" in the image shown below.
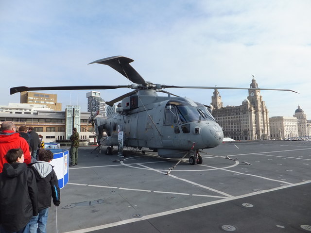
<svg viewBox="0 0 311 233"><path fill-rule="evenodd" d="M163 158L183 159L189 157L190 165L202 164L199 152L219 146L224 139L222 127L211 115L210 106L189 98L174 95L165 88L215 89L211 86L176 86L145 81L130 65L134 60L124 56L112 56L89 64L103 64L112 67L131 84L89 85L10 88L10 94L33 90L91 90L131 88L114 100L106 101L109 106L121 101L114 116L106 119L92 114L89 123L95 124L99 145L107 146L106 154L112 154L113 146L149 148ZM292 91L289 89L217 87L217 89L254 89ZM159 96L157 92L166 93ZM120 140L120 132L124 133ZM106 136L103 136L106 133Z"/></svg>

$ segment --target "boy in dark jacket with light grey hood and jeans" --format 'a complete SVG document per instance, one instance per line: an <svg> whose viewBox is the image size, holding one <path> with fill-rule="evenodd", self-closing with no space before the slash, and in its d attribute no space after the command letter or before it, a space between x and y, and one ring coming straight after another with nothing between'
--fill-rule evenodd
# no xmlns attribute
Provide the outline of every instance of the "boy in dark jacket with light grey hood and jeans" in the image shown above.
<svg viewBox="0 0 311 233"><path fill-rule="evenodd" d="M29 222L30 233L46 233L49 207L51 207L51 197L56 206L60 204L60 191L58 179L50 162L53 159L51 150L39 149L36 163L29 166L35 172L35 179L38 186L38 209L39 215L34 216Z"/></svg>

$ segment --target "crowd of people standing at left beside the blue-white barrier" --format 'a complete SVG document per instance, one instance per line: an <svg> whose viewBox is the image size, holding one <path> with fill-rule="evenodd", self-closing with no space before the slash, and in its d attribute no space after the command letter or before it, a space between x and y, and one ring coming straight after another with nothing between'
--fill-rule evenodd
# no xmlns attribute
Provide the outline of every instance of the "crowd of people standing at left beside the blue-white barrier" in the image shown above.
<svg viewBox="0 0 311 233"><path fill-rule="evenodd" d="M51 199L60 204L53 153L42 145L32 126L1 124L0 233L46 233Z"/></svg>

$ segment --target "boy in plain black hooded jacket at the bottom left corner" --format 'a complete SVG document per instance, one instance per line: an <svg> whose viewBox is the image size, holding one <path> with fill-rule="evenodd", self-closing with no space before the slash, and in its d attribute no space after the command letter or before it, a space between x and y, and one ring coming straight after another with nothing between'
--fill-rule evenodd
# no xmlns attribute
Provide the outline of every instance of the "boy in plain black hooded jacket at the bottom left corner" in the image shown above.
<svg viewBox="0 0 311 233"><path fill-rule="evenodd" d="M11 149L0 173L0 232L28 233L29 220L38 215L35 174L24 163L24 153Z"/></svg>

